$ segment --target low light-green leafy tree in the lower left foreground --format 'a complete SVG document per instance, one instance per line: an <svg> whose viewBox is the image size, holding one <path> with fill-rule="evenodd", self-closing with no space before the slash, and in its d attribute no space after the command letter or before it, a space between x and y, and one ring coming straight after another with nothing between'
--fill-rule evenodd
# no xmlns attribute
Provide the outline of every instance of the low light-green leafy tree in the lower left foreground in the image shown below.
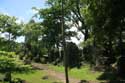
<svg viewBox="0 0 125 83"><path fill-rule="evenodd" d="M31 69L29 65L24 65L14 52L0 51L0 72L5 73L5 81L11 82L12 72L26 72Z"/></svg>

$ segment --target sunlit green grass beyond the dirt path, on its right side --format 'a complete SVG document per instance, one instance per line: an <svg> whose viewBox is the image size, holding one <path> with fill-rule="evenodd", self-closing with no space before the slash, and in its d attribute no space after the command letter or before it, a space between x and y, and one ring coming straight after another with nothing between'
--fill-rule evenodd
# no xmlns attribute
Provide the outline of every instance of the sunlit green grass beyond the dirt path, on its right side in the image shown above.
<svg viewBox="0 0 125 83"><path fill-rule="evenodd" d="M55 71L64 72L63 66L49 65L49 67ZM69 76L80 80L99 81L97 80L97 78L100 77L101 75L102 75L102 72L91 71L88 65L83 66L80 69L77 69L77 68L69 69Z"/></svg>

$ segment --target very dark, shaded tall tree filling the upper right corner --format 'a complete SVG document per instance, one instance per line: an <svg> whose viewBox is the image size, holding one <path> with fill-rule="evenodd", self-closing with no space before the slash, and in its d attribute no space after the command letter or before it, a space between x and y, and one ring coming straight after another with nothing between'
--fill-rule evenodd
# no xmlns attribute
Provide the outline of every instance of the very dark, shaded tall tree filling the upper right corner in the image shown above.
<svg viewBox="0 0 125 83"><path fill-rule="evenodd" d="M124 28L125 1L89 0L88 3L88 11L90 12L90 16L92 16L93 21L92 31L95 36L95 40L107 51L105 52L107 53L106 55L113 58L115 56L114 52L117 51L114 49L118 47L119 43L117 40L121 40L120 33ZM123 44L120 43L120 46L122 47ZM119 53L118 55L124 54ZM121 69L120 72L123 72L122 69L124 69L124 63L121 61L121 59L119 61L121 62L118 65Z"/></svg>

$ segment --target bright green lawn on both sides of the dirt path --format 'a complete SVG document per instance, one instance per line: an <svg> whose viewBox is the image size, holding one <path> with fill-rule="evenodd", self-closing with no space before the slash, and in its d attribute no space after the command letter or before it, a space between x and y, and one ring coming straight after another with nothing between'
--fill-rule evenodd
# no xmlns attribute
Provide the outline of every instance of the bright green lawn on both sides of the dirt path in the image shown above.
<svg viewBox="0 0 125 83"><path fill-rule="evenodd" d="M55 70L57 72L64 73L63 66L53 66L48 65L50 69ZM95 72L91 71L88 65L81 67L80 69L73 68L69 69L69 76L74 77L78 80L88 80L88 81L100 81L97 80L98 77L102 75L103 72ZM43 77L48 76L47 73L43 70L33 70L29 73L13 73L13 78L20 78L22 80L26 80L28 83L61 83L59 80L48 76L48 79L42 79Z"/></svg>

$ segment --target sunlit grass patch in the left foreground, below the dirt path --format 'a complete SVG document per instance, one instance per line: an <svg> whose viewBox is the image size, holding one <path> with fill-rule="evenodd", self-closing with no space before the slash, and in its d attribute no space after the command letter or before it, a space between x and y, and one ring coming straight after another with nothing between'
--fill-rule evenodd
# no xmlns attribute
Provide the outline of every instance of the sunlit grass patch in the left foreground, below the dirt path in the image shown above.
<svg viewBox="0 0 125 83"><path fill-rule="evenodd" d="M42 79L47 76L44 71L35 70L32 73L14 73L13 78L20 78L22 80L26 80L28 83L54 83L58 82L56 79L52 77L48 77L48 79ZM59 82L58 82L59 83Z"/></svg>

